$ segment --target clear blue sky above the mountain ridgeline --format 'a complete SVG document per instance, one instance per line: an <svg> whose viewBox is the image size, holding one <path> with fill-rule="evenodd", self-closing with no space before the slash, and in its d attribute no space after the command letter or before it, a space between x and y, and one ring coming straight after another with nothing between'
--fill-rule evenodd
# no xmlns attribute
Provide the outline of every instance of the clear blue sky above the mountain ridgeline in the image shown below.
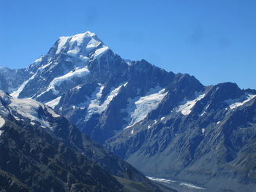
<svg viewBox="0 0 256 192"><path fill-rule="evenodd" d="M255 9L255 0L0 0L0 66L29 66L59 37L91 31L122 58L256 88Z"/></svg>

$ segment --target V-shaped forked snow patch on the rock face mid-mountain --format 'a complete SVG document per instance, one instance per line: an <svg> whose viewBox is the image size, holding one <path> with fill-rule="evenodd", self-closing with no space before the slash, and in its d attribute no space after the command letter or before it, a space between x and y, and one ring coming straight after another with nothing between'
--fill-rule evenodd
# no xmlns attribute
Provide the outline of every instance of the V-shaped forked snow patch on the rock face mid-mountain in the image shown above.
<svg viewBox="0 0 256 192"><path fill-rule="evenodd" d="M113 98L118 95L120 88L126 84L127 82L122 83L117 88L112 88L112 91L110 91L107 98L102 104L100 103L100 99L102 97L102 91L105 87L102 85L100 88L98 88L97 90L98 92L96 93L96 95L95 93L92 94L94 96L93 96L93 99L91 99L91 103L89 104L89 107L87 109L88 115L86 116L86 120L89 120L89 118L91 118L91 115L93 115L94 113L100 114L105 110L107 110L108 104L110 104L110 101L112 101Z"/></svg>

